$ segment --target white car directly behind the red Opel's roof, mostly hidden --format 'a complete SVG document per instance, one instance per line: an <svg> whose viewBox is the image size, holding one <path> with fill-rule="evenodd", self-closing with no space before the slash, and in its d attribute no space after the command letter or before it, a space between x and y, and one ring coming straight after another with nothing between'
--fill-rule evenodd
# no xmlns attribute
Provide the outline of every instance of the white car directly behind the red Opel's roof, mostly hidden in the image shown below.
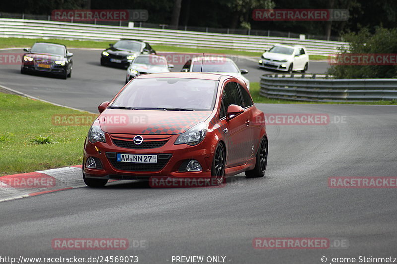
<svg viewBox="0 0 397 264"><path fill-rule="evenodd" d="M203 60L204 59L204 60ZM250 90L250 81L243 76L248 70L239 69L230 58L220 57L194 57L188 60L181 71L186 72L211 72L240 78Z"/></svg>

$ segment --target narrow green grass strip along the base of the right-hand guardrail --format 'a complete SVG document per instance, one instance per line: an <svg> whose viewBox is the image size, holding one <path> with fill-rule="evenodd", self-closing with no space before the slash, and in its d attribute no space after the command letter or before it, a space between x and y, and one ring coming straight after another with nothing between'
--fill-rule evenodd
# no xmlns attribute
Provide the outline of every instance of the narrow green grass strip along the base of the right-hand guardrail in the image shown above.
<svg viewBox="0 0 397 264"><path fill-rule="evenodd" d="M368 102L306 102L306 101L294 101L294 100L283 100L283 99L270 99L259 94L259 83L250 83L250 93L254 103L265 103L265 104L353 104L353 105L397 105L397 100L391 101L368 101Z"/></svg>

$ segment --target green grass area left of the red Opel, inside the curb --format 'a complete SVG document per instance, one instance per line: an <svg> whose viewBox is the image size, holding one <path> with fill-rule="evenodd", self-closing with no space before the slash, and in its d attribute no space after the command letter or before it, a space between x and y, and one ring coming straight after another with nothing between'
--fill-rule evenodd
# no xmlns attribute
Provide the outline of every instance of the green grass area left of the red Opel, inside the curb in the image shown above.
<svg viewBox="0 0 397 264"><path fill-rule="evenodd" d="M89 125L52 118L88 113L11 94L0 93L0 102L0 176L81 164Z"/></svg>

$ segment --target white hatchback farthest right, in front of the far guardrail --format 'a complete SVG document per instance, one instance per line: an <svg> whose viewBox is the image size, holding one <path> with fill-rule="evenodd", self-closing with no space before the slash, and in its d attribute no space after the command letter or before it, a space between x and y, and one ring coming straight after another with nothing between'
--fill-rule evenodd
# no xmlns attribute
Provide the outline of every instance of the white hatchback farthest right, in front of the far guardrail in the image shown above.
<svg viewBox="0 0 397 264"><path fill-rule="evenodd" d="M309 55L304 47L278 44L265 51L258 64L265 69L306 72L309 68Z"/></svg>

